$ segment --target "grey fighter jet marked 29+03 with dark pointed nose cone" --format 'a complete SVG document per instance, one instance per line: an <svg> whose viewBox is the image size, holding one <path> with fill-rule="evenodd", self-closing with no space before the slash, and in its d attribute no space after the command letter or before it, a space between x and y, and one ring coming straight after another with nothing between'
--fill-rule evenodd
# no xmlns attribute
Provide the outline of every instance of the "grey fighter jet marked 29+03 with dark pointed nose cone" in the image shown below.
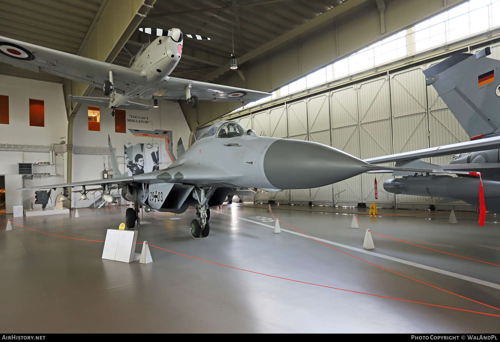
<svg viewBox="0 0 500 342"><path fill-rule="evenodd" d="M477 150L485 142L488 146L500 147L500 137L493 137L488 141L481 141L481 147L477 146L476 141L469 141L450 148L455 153ZM209 233L210 207L221 205L228 194L255 193L241 188L269 191L311 188L388 167L372 165L317 142L257 136L254 130L246 129L234 121L219 121L207 127L184 152L183 147L179 146L177 160L162 170L123 177L117 171L110 141L109 149L113 178L16 190L62 187L64 198L67 198L69 187L81 186L79 192L86 196L86 186L101 185L104 200L114 202L115 198L110 190L118 188L123 198L135 204L134 208L128 208L125 213L128 228L133 228L135 221L140 224L137 215L139 205L146 212L157 210L175 213L184 212L191 205L196 207L198 216L191 222L191 234L199 237L200 234L207 236ZM411 165L390 169L469 174L466 171L436 170Z"/></svg>

